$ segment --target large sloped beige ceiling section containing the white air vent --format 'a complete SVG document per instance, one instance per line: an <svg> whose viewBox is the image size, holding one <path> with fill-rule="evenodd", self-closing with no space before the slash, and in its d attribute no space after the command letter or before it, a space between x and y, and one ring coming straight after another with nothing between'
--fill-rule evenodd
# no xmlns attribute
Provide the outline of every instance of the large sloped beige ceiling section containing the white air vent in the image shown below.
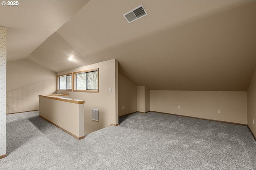
<svg viewBox="0 0 256 170"><path fill-rule="evenodd" d="M128 24L122 14L140 4L148 16ZM150 89L246 91L255 30L255 1L92 0L29 59L59 72L116 58L121 74Z"/></svg>

